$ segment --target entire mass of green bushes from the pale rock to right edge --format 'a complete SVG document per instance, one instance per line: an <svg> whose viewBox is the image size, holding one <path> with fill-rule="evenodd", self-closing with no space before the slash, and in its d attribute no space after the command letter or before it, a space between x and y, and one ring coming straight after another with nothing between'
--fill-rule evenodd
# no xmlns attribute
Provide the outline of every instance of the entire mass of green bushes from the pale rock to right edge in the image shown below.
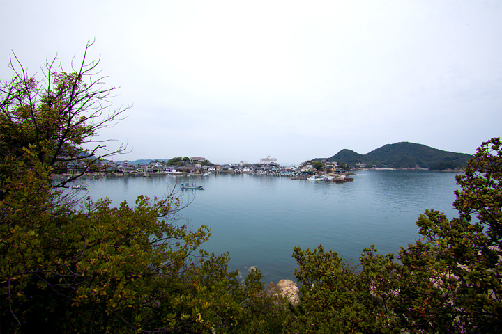
<svg viewBox="0 0 502 334"><path fill-rule="evenodd" d="M399 256L372 246L360 270L337 253L295 248L301 323L311 333L501 333L502 147L482 143L453 203L459 217L427 210Z"/></svg>

